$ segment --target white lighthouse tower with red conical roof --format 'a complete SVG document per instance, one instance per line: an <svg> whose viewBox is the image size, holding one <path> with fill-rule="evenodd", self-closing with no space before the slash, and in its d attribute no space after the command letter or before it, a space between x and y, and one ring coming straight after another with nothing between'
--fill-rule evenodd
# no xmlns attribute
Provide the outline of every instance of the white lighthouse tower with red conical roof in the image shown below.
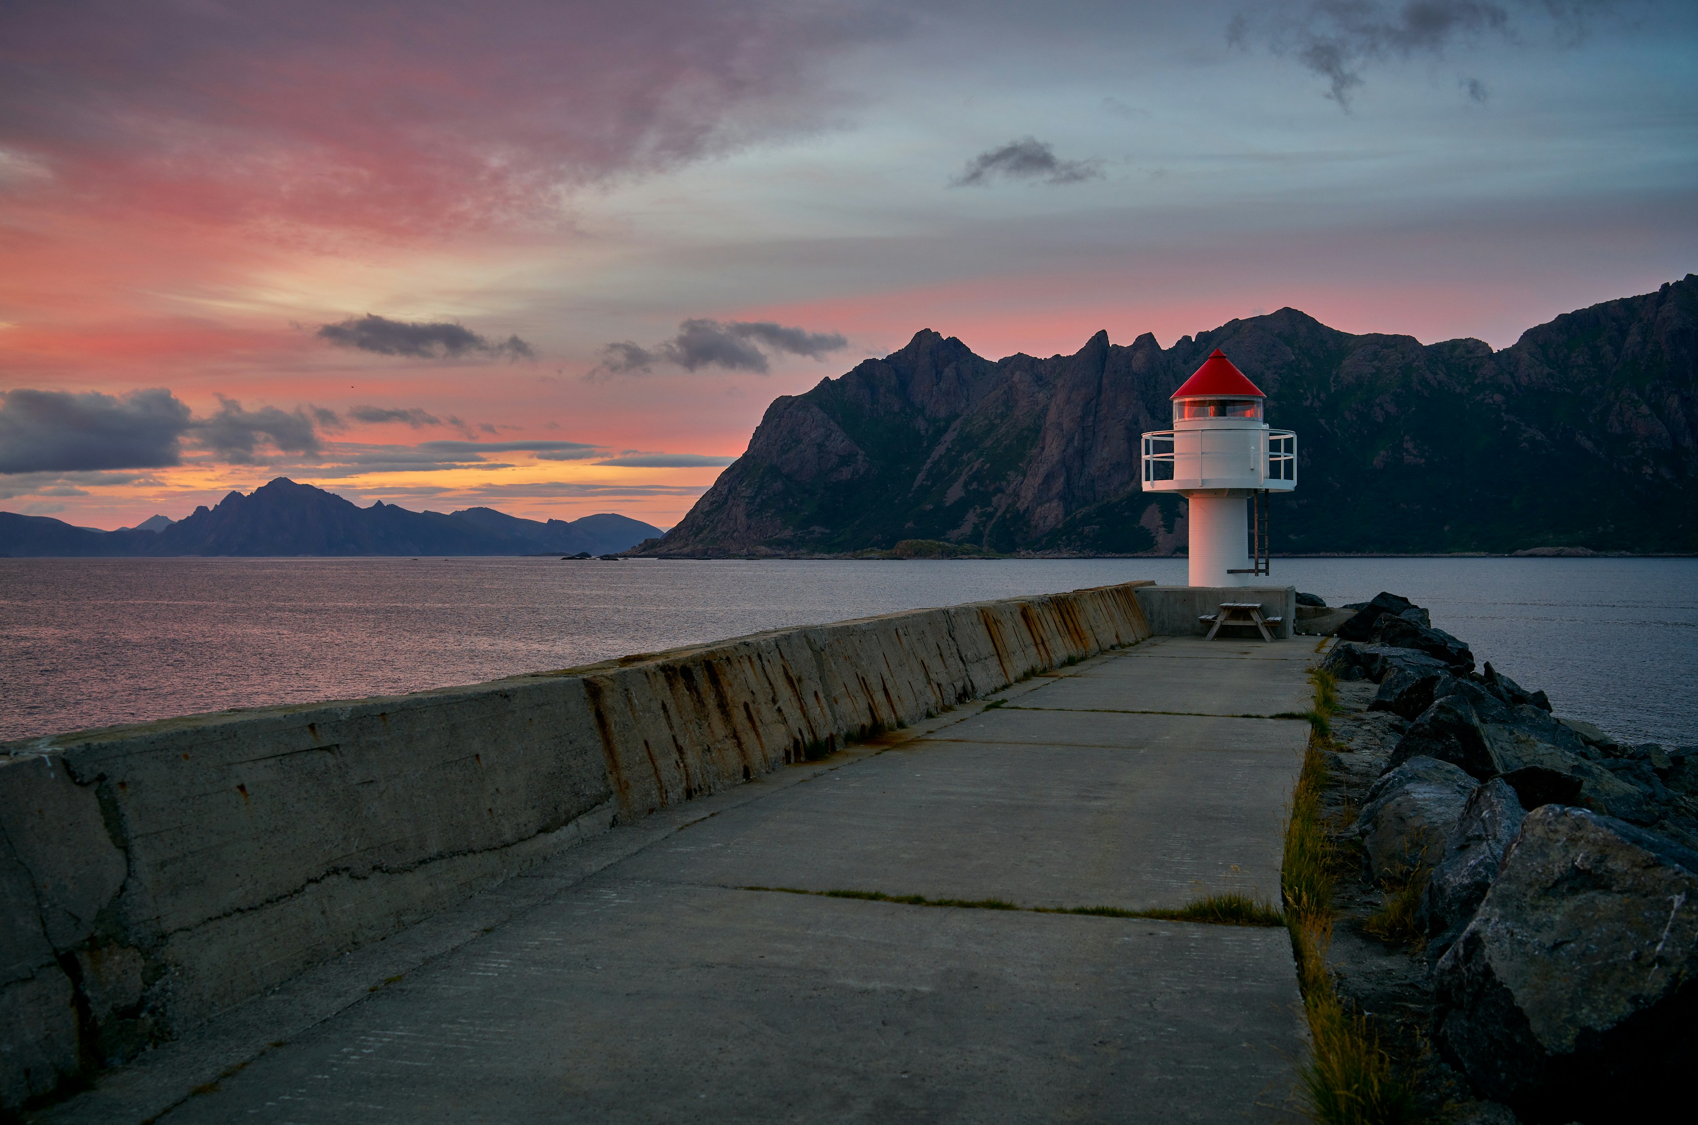
<svg viewBox="0 0 1698 1125"><path fill-rule="evenodd" d="M1251 585L1267 565L1267 494L1297 487L1297 434L1216 348L1173 392L1173 429L1144 434L1144 492L1190 501L1190 584ZM1251 523L1253 521L1253 523Z"/></svg>

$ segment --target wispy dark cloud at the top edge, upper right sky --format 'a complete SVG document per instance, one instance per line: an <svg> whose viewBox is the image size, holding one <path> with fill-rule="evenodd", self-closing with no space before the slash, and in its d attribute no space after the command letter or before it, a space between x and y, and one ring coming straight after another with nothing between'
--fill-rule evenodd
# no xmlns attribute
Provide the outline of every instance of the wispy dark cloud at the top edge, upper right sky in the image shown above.
<svg viewBox="0 0 1698 1125"><path fill-rule="evenodd" d="M1523 27L1533 25L1574 46L1586 39L1593 17L1615 7L1620 7L1615 0L1307 0L1240 12L1228 24L1226 41L1243 48L1262 44L1297 59L1326 80L1326 97L1348 109L1372 63L1418 54L1443 58L1450 48L1477 39L1513 42L1525 37ZM1476 102L1487 97L1477 78L1464 80L1462 88Z"/></svg>

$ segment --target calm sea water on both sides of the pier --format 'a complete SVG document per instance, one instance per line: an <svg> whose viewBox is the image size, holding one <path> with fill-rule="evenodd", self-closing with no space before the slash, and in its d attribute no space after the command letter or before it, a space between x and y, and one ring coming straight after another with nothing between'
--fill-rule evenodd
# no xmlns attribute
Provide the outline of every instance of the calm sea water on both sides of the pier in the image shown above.
<svg viewBox="0 0 1698 1125"><path fill-rule="evenodd" d="M1297 558L1330 604L1431 609L1557 714L1698 743L1698 560ZM759 630L1184 582L1168 558L559 562L552 558L0 560L0 740L419 691Z"/></svg>

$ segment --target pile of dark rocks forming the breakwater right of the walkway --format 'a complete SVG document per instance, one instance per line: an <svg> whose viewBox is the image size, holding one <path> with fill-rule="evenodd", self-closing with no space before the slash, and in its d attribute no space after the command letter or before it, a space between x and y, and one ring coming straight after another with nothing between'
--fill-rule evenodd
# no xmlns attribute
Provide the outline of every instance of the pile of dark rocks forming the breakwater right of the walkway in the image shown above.
<svg viewBox="0 0 1698 1125"><path fill-rule="evenodd" d="M1698 747L1557 718L1403 597L1355 609L1323 662L1341 835L1387 891L1357 928L1409 964L1343 965L1358 1003L1425 1023L1440 1100L1496 1103L1470 1120L1657 1120L1698 1057Z"/></svg>

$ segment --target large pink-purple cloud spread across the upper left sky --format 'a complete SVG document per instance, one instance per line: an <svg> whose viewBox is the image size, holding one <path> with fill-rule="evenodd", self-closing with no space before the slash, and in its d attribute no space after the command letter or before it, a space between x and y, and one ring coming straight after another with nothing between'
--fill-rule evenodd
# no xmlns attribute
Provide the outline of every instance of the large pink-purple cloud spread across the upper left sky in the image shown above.
<svg viewBox="0 0 1698 1125"><path fill-rule="evenodd" d="M886 31L776 0L8 7L0 146L37 190L379 236L805 124L810 63Z"/></svg>

